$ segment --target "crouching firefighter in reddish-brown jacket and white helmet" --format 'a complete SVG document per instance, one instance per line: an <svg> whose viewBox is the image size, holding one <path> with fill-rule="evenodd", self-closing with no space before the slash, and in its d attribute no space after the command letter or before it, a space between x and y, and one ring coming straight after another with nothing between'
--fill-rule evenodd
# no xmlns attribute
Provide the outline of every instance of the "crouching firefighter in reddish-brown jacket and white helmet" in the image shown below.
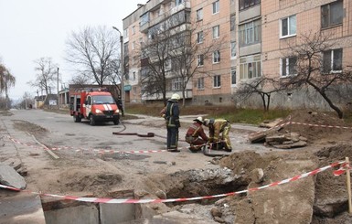
<svg viewBox="0 0 352 224"><path fill-rule="evenodd" d="M197 117L193 120L195 123L192 123L187 130L185 140L190 146L188 149L192 153L197 153L201 147L208 142L208 136L204 133L202 124L204 122L203 117Z"/></svg>

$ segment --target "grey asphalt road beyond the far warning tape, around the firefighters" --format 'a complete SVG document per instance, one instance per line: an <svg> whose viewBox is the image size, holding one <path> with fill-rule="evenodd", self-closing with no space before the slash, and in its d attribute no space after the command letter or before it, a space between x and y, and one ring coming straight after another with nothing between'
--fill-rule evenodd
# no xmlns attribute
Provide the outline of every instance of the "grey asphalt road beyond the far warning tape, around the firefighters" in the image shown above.
<svg viewBox="0 0 352 224"><path fill-rule="evenodd" d="M18 110L11 111L14 115L3 117L5 126L16 138L16 130L12 129L14 121L26 121L35 123L43 128L46 128L49 135L43 134L37 136L38 140L48 147L75 147L84 149L112 149L116 151L134 151L134 150L161 150L165 149L166 130L160 125L154 126L153 123L163 123L162 118L148 117L139 115L139 119L122 121L121 124L114 125L113 123L101 123L96 126L91 126L88 121L82 123L74 123L69 114L61 114L56 112L44 112L42 110ZM181 116L182 123L192 123L192 120L197 116ZM141 125L145 121L152 123L151 125ZM187 124L186 124L187 125ZM251 132L260 131L258 127L241 124L231 124L232 131L230 139L233 148L241 150L261 149L262 145L248 144L247 135ZM187 143L183 141L187 126L183 125L180 128L179 147L186 147ZM153 138L139 138L136 135L114 135L112 133L155 133ZM18 136L23 138L23 136Z"/></svg>

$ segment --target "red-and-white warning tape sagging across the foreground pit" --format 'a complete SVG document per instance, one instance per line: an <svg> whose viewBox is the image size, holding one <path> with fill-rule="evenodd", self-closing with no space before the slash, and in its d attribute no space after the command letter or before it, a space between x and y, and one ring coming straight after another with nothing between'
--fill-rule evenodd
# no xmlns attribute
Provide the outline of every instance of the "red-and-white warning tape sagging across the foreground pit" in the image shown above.
<svg viewBox="0 0 352 224"><path fill-rule="evenodd" d="M28 190L21 190L18 189L16 187L8 187L5 185L0 185L0 187L5 188L5 189L11 189L11 190L15 190L15 191L26 191L32 194L37 194L40 196L47 196L47 197L59 197L59 198L63 198L63 199L69 199L69 200L76 200L76 201L82 201L82 202L93 202L93 203L108 203L108 204L144 204L144 203L166 203L166 202L183 202L183 201L193 201L193 200L201 200L201 199L211 199L211 198L217 198L217 197L228 197L228 196L235 196L235 195L240 195L240 194L244 194L244 193L249 193L249 192L253 192L253 191L257 191L257 190L261 190L261 189L265 189L268 187L276 187L276 186L280 186L283 184L287 184L299 179L302 179L304 177L307 176L315 176L316 174L323 172L329 168L333 168L337 165L341 165L342 167L344 167L346 169L346 167L349 167L349 165L347 165L346 161L340 161L340 162L336 162L333 163L331 165L326 165L324 167L321 168L317 168L311 172L308 173L304 173L302 175L298 175L298 176L293 176L291 178L287 178L284 179L282 181L276 181L273 182L272 184L269 185L265 185L262 187L253 187L253 188L248 188L246 190L240 190L240 191L236 191L236 192L230 192L230 193L226 193L226 194L219 194L219 195L214 195L214 196L203 196L203 197L185 197L185 198L169 198L169 199L115 199L115 198L106 198L106 197L75 197L75 196L60 196L60 195L54 195L54 194L44 194L44 193L39 193L39 192L30 192ZM334 175L337 175L334 172ZM342 174L339 174L342 175Z"/></svg>

